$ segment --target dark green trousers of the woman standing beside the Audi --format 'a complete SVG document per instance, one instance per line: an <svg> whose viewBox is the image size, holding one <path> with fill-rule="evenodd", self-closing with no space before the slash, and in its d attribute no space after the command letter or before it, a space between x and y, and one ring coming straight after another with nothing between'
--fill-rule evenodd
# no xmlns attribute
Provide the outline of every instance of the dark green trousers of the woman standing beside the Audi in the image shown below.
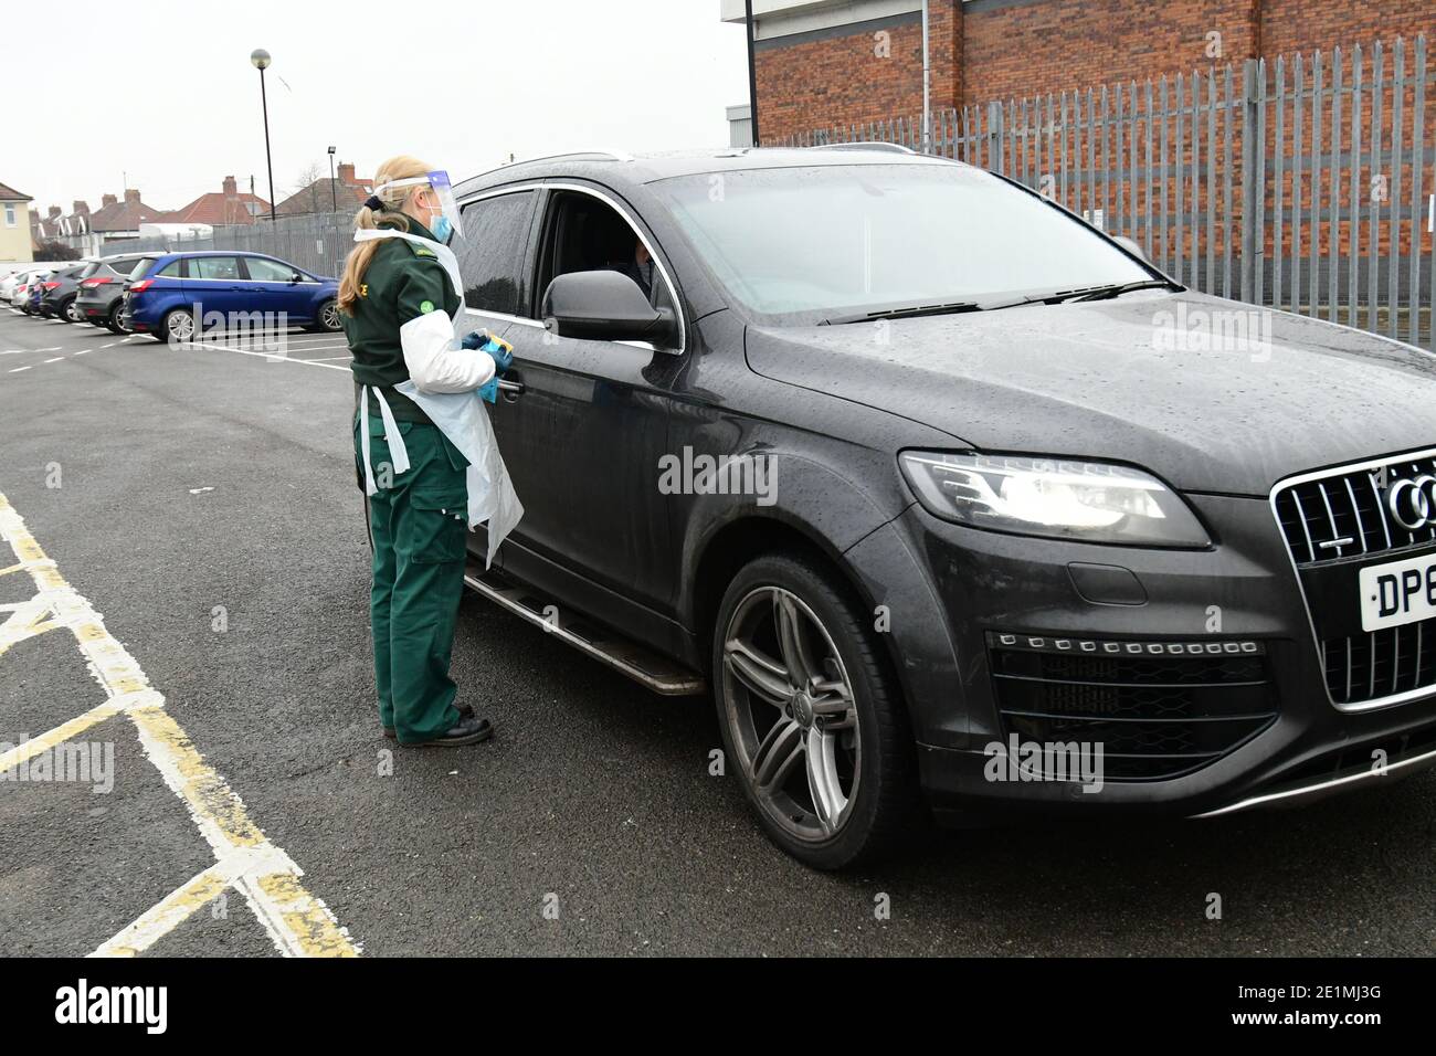
<svg viewBox="0 0 1436 1056"><path fill-rule="evenodd" d="M369 496L373 534L373 672L379 720L401 744L441 737L458 721L449 678L454 624L464 595L468 488L464 455L428 422L396 422L409 468L393 473L383 420L369 417ZM363 448L355 420L355 460Z"/></svg>

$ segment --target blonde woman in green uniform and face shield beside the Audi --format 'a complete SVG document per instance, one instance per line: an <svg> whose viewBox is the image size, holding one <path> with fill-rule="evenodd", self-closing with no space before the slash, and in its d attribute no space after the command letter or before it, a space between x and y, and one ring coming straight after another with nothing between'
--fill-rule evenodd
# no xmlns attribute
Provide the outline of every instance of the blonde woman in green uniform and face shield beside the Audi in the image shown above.
<svg viewBox="0 0 1436 1056"><path fill-rule="evenodd" d="M503 348L480 351L487 335L454 342L460 292L445 244L457 216L447 216L447 177L429 178L441 175L408 157L381 165L339 286L358 391L355 458L373 536L379 718L386 736L414 746L472 744L493 726L455 704L448 674L464 592L468 460L395 385L412 381L426 394L495 388L511 362Z"/></svg>

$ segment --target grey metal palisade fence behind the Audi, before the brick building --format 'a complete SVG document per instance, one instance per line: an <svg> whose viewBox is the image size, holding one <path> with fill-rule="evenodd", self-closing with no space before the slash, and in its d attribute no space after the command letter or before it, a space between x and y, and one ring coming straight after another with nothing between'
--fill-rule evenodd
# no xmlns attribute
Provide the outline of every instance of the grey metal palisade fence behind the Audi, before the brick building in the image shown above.
<svg viewBox="0 0 1436 1056"><path fill-rule="evenodd" d="M817 129L1018 180L1179 282L1436 351L1426 37Z"/></svg>

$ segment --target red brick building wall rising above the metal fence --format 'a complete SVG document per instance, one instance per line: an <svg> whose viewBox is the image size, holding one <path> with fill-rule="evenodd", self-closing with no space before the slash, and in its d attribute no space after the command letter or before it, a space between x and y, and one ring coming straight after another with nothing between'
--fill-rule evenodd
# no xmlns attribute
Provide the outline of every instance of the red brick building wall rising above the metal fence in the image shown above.
<svg viewBox="0 0 1436 1056"><path fill-rule="evenodd" d="M764 141L922 112L922 0L754 0ZM1407 39L1432 0L929 0L932 108ZM742 0L722 0L725 22Z"/></svg>

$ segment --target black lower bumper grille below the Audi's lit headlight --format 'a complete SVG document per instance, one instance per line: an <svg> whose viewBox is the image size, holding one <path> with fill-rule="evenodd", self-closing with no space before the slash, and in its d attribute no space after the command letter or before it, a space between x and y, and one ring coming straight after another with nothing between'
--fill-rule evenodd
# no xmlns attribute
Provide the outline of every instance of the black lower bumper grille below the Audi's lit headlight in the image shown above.
<svg viewBox="0 0 1436 1056"><path fill-rule="evenodd" d="M989 634L1004 736L1100 746L1104 780L1165 780L1271 726L1261 642L1093 641Z"/></svg>

